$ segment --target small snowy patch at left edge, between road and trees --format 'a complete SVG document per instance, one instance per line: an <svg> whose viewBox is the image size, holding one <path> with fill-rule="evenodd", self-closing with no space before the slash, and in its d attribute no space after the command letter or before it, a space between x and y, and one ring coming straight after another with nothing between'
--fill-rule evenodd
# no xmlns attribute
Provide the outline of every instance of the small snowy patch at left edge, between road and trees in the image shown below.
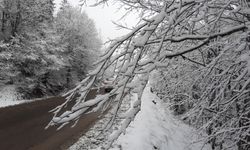
<svg viewBox="0 0 250 150"><path fill-rule="evenodd" d="M14 85L5 86L0 90L0 107L17 105L25 102L19 99L20 95L16 92Z"/></svg>

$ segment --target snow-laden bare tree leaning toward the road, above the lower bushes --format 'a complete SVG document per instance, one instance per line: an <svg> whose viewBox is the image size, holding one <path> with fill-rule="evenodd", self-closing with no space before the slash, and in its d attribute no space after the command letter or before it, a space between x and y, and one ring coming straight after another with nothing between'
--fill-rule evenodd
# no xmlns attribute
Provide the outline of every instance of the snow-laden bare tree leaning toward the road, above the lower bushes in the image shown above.
<svg viewBox="0 0 250 150"><path fill-rule="evenodd" d="M97 0L94 5L108 2ZM249 32L249 8L245 0L119 0L118 3L128 12L138 11L141 16L140 24L127 35L111 42L96 62L96 69L76 88L64 95L67 101L54 109L54 118L49 124L61 124L63 127L71 121L77 122L79 116L84 113L112 107L113 116L107 124L108 129L117 119L117 112L125 95L131 92L138 93L138 101L130 109L121 128L112 134L106 145L107 149L140 111L141 95L150 72L168 67L169 60L180 57L185 58L187 62L199 64L208 71L211 67L214 70L214 64L218 63L221 55L237 49L240 43L247 43ZM211 51L216 48L216 54L205 57L205 51L210 48ZM247 48L245 46L239 51ZM190 57L197 52L204 53ZM209 59L205 62L204 58ZM97 80L102 79L105 71L111 66L115 66L114 89L106 95L86 101L90 89ZM226 71L218 72L217 76ZM208 81L209 79L207 78ZM210 84L204 86L206 85ZM240 89L245 90L247 86L248 82ZM208 98L209 96L205 95L206 90L203 95ZM80 96L75 98L76 95ZM71 110L61 114L63 108L71 101L75 101L75 105Z"/></svg>

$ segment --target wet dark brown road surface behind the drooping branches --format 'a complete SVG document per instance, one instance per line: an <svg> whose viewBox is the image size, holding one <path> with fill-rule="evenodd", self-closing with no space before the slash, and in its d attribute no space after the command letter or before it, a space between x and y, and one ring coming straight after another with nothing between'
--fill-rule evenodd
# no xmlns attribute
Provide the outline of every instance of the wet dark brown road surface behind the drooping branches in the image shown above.
<svg viewBox="0 0 250 150"><path fill-rule="evenodd" d="M105 90L102 89L101 93ZM92 90L87 99L96 96ZM75 142L98 119L98 113L83 115L77 126L70 125L57 131L44 130L52 118L48 111L64 101L53 97L0 109L0 150L61 150Z"/></svg>

